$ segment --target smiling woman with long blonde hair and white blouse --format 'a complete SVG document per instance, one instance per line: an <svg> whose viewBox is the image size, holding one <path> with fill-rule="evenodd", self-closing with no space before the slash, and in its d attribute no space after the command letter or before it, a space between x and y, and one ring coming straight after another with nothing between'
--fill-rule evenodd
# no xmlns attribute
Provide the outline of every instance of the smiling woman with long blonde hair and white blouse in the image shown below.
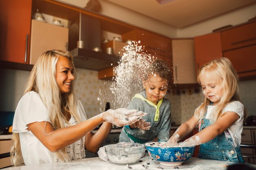
<svg viewBox="0 0 256 170"><path fill-rule="evenodd" d="M46 51L34 65L13 119L14 166L85 158L96 152L112 123L132 124L144 113L119 108L87 119L74 95L75 69L65 51ZM104 123L103 123L104 122ZM92 130L102 126L93 135Z"/></svg>

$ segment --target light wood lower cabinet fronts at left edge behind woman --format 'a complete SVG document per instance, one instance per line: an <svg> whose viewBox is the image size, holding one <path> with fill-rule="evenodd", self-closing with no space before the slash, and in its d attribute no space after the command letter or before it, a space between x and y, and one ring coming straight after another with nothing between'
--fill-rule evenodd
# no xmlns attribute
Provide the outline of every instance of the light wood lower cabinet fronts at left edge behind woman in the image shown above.
<svg viewBox="0 0 256 170"><path fill-rule="evenodd" d="M0 140L0 154L10 152L11 140ZM11 157L0 159L0 168L10 166Z"/></svg>

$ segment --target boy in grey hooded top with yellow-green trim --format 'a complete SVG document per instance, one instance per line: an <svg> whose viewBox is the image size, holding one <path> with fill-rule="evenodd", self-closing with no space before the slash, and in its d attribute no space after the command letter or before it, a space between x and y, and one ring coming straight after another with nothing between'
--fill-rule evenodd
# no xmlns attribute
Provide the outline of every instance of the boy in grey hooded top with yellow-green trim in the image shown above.
<svg viewBox="0 0 256 170"><path fill-rule="evenodd" d="M135 124L124 126L119 142L144 144L155 137L160 141L169 139L171 104L164 96L170 85L170 75L171 71L162 60L155 60L149 65L143 80L145 91L136 94L127 107L143 111L148 115Z"/></svg>

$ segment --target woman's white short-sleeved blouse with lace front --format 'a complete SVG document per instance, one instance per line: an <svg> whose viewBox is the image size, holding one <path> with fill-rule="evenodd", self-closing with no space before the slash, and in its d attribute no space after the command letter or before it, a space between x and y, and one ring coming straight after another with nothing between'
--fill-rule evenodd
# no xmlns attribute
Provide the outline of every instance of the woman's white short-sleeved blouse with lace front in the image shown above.
<svg viewBox="0 0 256 170"><path fill-rule="evenodd" d="M81 116L82 121L87 119L85 110L79 100L77 100L77 110ZM29 130L27 130L27 124L33 122L48 121L49 112L43 104L40 96L34 92L27 92L19 101L14 118L13 118L13 132L19 133L20 147L22 157L25 165L41 164L56 162L58 159L54 156L54 153L48 150ZM72 116L69 123L71 125L76 124L74 117ZM65 123L65 126L68 126ZM82 159L85 157L84 153L85 137L79 139L74 144L66 147L67 154L71 159ZM72 148L72 150L71 150Z"/></svg>

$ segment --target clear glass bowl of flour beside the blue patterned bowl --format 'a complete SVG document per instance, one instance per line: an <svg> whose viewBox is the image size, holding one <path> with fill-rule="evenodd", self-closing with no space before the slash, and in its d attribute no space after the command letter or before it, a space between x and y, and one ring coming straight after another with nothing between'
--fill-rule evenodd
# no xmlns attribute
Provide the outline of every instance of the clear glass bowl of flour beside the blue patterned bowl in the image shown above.
<svg viewBox="0 0 256 170"><path fill-rule="evenodd" d="M108 160L119 165L137 163L143 153L144 145L135 143L111 144L105 146Z"/></svg>

